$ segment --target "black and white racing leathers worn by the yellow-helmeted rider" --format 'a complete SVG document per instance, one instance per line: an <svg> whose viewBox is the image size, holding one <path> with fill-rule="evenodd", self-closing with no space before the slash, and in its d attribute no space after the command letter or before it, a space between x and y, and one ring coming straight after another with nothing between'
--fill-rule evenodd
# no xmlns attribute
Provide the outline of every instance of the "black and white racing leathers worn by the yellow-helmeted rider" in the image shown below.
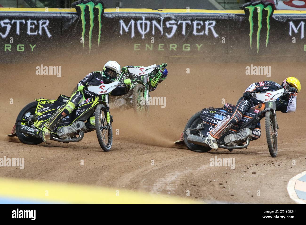
<svg viewBox="0 0 306 225"><path fill-rule="evenodd" d="M262 91L262 92L277 91L281 88L282 88L282 86L279 85L278 83L274 82L274 81L261 81L261 82L253 83L250 86L248 86L248 88L245 90L245 92L247 92L247 91ZM262 92L259 92L259 93L262 93ZM288 98L284 98L284 99L278 98L276 100L276 111L281 111L283 113L295 111L295 109L296 109L296 96L297 95L295 94L295 95L290 95L290 96L288 96ZM224 135L228 129L230 129L232 126L234 126L235 124L237 124L240 121L240 119L242 118L242 115L245 112L247 112L249 110L249 108L251 108L254 105L257 105L258 103L259 103L259 100L257 100L257 99L254 99L254 98L247 99L245 97L241 97L238 100L238 102L236 104L236 107L233 110L233 114L224 118L210 132L211 136L216 138L216 139L219 139L220 137L222 137L222 135ZM256 125L256 129L260 129L260 124ZM258 135L258 134L260 134L260 132L256 132L256 133L257 133L256 137L259 138L260 135ZM253 134L254 134L254 132L253 132Z"/></svg>

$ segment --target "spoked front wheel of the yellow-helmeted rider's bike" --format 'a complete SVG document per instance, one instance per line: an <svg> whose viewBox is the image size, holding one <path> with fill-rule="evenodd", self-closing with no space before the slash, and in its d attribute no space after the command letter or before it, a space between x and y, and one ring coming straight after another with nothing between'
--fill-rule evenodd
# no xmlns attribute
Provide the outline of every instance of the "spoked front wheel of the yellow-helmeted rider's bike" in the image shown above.
<svg viewBox="0 0 306 225"><path fill-rule="evenodd" d="M267 136L269 152L272 157L276 157L278 153L276 115L274 116L272 111L267 111L265 122L266 122L266 136Z"/></svg>

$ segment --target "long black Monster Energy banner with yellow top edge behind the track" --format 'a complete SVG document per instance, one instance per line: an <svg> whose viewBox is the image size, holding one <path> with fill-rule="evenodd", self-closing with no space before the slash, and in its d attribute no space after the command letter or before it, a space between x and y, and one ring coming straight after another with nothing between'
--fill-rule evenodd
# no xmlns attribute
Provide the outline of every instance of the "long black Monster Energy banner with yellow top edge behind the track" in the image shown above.
<svg viewBox="0 0 306 225"><path fill-rule="evenodd" d="M128 52L159 56L304 56L306 13L278 13L253 2L231 11L107 9L77 1L75 9L0 9L0 58ZM233 58L235 59L235 58Z"/></svg>

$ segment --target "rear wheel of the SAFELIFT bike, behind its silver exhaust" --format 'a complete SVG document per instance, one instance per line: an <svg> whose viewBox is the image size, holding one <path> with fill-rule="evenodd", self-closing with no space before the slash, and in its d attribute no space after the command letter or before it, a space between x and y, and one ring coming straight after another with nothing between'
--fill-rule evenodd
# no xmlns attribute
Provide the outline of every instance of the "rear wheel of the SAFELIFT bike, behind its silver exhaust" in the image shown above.
<svg viewBox="0 0 306 225"><path fill-rule="evenodd" d="M205 146L189 143L187 141L188 135L186 134L186 129L188 129L188 128L196 128L196 126L198 126L199 123L203 122L202 119L200 118L201 113L202 113L202 111L199 111L196 114L194 114L189 119L189 121L187 122L187 124L185 126L184 143L185 143L185 145L187 146L188 149L190 149L191 151L194 151L194 152L208 152L208 151L211 150L210 147L205 147ZM190 134L198 135L198 132L199 131L191 130Z"/></svg>

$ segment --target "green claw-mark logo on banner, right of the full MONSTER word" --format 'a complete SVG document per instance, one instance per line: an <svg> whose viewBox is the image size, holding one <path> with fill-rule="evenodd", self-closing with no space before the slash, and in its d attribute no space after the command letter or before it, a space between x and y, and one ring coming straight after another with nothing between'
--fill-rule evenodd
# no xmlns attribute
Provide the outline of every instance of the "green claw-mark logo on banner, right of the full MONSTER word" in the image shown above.
<svg viewBox="0 0 306 225"><path fill-rule="evenodd" d="M259 51L259 40L260 40L260 31L263 27L262 21L263 21L263 10L267 11L267 37L266 37L266 47L269 43L269 34L270 34L270 17L273 15L274 6L272 3L263 4L262 2L255 2L255 3L246 3L244 4L241 9L243 9L245 12L249 11L249 23L250 23L250 46L252 49L252 35L253 35L253 15L254 10L256 8L257 14L258 14L258 30L257 30L257 53Z"/></svg>

